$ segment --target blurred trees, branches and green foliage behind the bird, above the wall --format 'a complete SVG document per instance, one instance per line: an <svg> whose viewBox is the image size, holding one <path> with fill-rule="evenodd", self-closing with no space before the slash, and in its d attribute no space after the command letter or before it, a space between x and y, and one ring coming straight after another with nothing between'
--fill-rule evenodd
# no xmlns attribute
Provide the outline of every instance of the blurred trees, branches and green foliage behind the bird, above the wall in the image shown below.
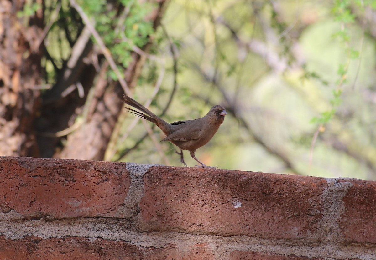
<svg viewBox="0 0 376 260"><path fill-rule="evenodd" d="M179 166L128 93L226 107L206 165L376 180L375 47L374 0L1 1L0 155Z"/></svg>

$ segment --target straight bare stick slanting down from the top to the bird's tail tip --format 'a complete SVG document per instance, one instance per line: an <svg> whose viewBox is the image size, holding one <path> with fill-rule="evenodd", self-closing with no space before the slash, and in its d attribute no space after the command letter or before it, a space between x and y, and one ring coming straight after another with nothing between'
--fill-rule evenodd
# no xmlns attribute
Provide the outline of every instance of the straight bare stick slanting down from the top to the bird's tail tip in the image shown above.
<svg viewBox="0 0 376 260"><path fill-rule="evenodd" d="M128 84L124 80L123 76L120 74L120 71L118 70L116 63L114 59L112 59L111 52L106 48L106 45L102 41L102 39L99 36L99 33L96 31L94 26L92 26L89 17L85 14L85 12L82 10L82 8L76 3L75 0L69 0L71 6L76 9L80 17L82 18L85 25L89 28L92 36L94 36L94 39L97 41L97 44L99 45L100 50L102 51L103 55L106 57L106 60L108 61L111 69L115 72L116 76L118 77L119 83L121 87L123 87L124 93L126 95L130 96L130 90L128 87Z"/></svg>

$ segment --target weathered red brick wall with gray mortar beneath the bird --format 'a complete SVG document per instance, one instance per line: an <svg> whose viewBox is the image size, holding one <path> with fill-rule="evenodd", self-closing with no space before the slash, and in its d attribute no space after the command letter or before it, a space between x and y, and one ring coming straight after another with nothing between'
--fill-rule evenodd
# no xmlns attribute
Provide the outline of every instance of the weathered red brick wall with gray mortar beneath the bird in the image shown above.
<svg viewBox="0 0 376 260"><path fill-rule="evenodd" d="M0 157L0 260L376 259L376 182Z"/></svg>

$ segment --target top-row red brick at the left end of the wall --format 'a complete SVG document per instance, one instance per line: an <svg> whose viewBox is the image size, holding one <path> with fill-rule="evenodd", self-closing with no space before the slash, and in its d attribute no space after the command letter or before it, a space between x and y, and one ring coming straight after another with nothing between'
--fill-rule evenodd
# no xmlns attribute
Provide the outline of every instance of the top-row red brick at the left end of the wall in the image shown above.
<svg viewBox="0 0 376 260"><path fill-rule="evenodd" d="M0 158L0 209L26 218L114 216L130 185L125 163Z"/></svg>

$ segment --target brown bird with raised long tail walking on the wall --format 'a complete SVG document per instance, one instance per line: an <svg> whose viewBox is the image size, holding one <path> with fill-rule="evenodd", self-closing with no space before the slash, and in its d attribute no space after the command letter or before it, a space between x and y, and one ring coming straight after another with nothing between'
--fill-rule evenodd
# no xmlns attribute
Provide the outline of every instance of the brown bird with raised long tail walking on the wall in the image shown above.
<svg viewBox="0 0 376 260"><path fill-rule="evenodd" d="M123 98L124 103L143 112L141 113L132 108L125 107L130 111L130 113L155 123L166 135L162 141L170 141L180 148L180 153L178 153L176 150L175 152L180 155L180 162L182 164L186 166L182 150L188 150L191 152L192 158L199 162L202 167L215 168L203 164L194 156L194 152L196 152L196 150L201 146L208 143L213 135L217 132L219 126L224 120L224 116L227 115L224 107L215 105L204 117L194 120L177 121L169 124L165 120L153 114L146 107L139 104L133 98L126 95L124 95Z"/></svg>

